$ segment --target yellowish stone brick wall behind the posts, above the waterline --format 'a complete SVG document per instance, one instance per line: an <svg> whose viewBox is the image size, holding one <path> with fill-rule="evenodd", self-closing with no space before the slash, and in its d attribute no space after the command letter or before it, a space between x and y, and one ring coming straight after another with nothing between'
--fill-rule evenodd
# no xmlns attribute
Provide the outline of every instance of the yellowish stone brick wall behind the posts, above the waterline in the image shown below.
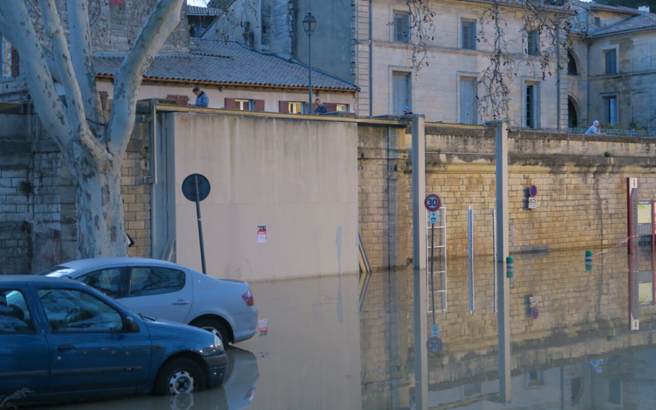
<svg viewBox="0 0 656 410"><path fill-rule="evenodd" d="M358 128L359 229L375 268L407 266L412 256L410 129ZM626 178L640 199L656 198L656 140L512 132L509 135L510 253L586 248L626 237ZM594 137L594 138L592 138ZM528 188L538 209L527 209ZM447 254L466 256L467 206L474 253L492 253L494 134L483 126L426 123L426 191L447 215Z"/></svg>

